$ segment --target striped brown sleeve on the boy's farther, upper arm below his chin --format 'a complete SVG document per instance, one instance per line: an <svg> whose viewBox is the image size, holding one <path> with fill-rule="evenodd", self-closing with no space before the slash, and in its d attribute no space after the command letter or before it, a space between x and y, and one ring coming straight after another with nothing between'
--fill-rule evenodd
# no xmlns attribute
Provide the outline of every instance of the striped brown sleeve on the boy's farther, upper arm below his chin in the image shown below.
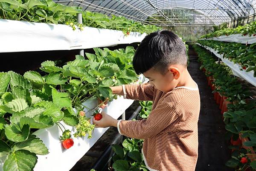
<svg viewBox="0 0 256 171"><path fill-rule="evenodd" d="M152 101L154 98L154 87L149 83L125 85L127 99Z"/></svg>

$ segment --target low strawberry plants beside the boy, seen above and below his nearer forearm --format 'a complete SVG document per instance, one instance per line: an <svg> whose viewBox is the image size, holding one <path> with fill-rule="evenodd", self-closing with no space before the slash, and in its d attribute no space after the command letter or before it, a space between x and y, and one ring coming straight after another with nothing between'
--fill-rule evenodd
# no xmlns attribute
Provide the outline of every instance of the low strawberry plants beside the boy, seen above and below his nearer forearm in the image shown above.
<svg viewBox="0 0 256 171"><path fill-rule="evenodd" d="M140 101L140 106L142 109L137 118L147 119L152 109L152 101ZM148 171L141 153L142 146L142 139L133 138L126 138L122 142L122 147L120 145L112 145L112 149L115 152L112 157L112 168L115 171Z"/></svg>

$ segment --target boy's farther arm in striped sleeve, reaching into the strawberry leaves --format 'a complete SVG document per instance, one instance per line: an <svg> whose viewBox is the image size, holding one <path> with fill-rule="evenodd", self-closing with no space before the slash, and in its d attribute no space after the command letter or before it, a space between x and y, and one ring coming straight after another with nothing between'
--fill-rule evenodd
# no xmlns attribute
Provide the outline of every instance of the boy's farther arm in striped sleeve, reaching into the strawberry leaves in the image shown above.
<svg viewBox="0 0 256 171"><path fill-rule="evenodd" d="M123 90L123 88L125 88ZM126 96L126 99L152 101L154 97L154 87L149 83L128 84L124 86L111 87L112 92L117 95Z"/></svg>

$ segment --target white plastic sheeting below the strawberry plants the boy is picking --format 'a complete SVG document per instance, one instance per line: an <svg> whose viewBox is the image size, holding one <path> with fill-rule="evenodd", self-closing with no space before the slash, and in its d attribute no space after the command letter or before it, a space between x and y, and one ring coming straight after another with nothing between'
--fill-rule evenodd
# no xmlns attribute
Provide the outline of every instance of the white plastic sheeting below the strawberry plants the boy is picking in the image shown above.
<svg viewBox="0 0 256 171"><path fill-rule="evenodd" d="M148 78L140 75L140 82L148 82ZM103 111L108 113L114 119L118 119L122 113L133 103L134 100L123 99L123 96L119 96L118 99L108 103ZM97 106L96 99L89 99L83 103L89 109ZM84 111L88 111L85 109ZM86 112L86 116L90 117L93 112ZM91 121L92 122L92 121ZM66 125L61 121L65 129L71 130L73 135L76 132L75 127ZM61 125L60 125L61 126ZM62 128L63 129L63 128ZM76 162L84 156L84 154L90 150L90 148L97 142L97 140L105 133L108 128L95 128L91 139L87 139L87 135L80 138L73 138L74 145L69 149L64 149L61 145L59 137L62 135L61 130L55 124L54 126L46 129L39 129L35 131L37 137L39 137L49 149L47 155L37 155L38 162L35 165L34 171L69 171ZM0 171L3 171L3 162L6 157L0 157Z"/></svg>

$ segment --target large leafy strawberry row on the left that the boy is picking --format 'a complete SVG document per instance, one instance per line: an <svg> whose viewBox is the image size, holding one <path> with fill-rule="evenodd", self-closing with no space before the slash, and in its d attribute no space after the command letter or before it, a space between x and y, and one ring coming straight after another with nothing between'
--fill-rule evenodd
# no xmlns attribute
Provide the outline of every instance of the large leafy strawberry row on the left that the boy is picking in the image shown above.
<svg viewBox="0 0 256 171"><path fill-rule="evenodd" d="M66 149L73 146L72 137L90 139L94 125L86 117L83 110L88 107L82 102L96 97L101 104L106 103L116 98L109 87L137 81L132 67L133 47L94 51L95 55L86 53L88 59L76 55L64 66L45 61L40 67L44 75L35 71L23 76L0 72L0 157L6 157L4 171L31 171L38 159L36 154L49 153L44 142L32 134L38 129L58 125ZM71 135L61 121L75 127L76 133Z"/></svg>

